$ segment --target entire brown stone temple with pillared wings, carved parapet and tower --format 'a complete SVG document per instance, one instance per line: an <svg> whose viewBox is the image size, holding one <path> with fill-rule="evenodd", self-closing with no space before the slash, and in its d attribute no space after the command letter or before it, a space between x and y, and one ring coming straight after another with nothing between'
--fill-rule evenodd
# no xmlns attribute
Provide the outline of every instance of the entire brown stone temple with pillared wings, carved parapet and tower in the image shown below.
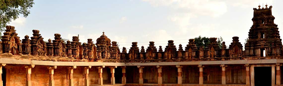
<svg viewBox="0 0 283 86"><path fill-rule="evenodd" d="M282 39L271 8L254 8L253 25L244 45L239 37L226 48L210 38L208 47L168 41L165 50L132 47L120 51L105 33L79 42L61 41L60 34L43 41L39 30L18 37L6 26L0 41L0 86L283 86Z"/></svg>

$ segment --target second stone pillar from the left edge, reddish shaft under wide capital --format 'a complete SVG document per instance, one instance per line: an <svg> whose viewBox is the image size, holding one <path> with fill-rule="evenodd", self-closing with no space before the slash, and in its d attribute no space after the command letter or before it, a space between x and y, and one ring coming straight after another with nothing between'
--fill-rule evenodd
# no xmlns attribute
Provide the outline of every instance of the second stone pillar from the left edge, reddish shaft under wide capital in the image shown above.
<svg viewBox="0 0 283 86"><path fill-rule="evenodd" d="M25 86L31 86L31 68L34 68L35 65L25 65L25 73L27 80L25 81Z"/></svg>

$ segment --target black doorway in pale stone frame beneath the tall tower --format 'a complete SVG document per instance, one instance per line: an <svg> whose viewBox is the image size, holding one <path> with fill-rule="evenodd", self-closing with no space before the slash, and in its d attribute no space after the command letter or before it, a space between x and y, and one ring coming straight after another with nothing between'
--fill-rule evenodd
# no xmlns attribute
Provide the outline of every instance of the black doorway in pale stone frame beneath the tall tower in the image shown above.
<svg viewBox="0 0 283 86"><path fill-rule="evenodd" d="M254 67L255 86L271 86L271 67Z"/></svg>

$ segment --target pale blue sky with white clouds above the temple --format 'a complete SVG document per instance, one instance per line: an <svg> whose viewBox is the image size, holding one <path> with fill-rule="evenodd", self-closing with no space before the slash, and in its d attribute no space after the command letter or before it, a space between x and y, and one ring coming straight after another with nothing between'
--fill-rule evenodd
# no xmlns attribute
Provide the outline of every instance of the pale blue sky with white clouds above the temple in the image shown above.
<svg viewBox="0 0 283 86"><path fill-rule="evenodd" d="M242 44L252 26L253 8L273 6L272 15L279 31L283 31L282 0L35 0L28 17L20 16L10 24L20 39L39 30L44 40L54 34L70 39L78 34L80 42L96 39L105 32L117 41L120 50L155 46L163 50L168 40L185 49L188 39L198 36L223 38L226 45L238 36ZM265 8L265 6L264 6ZM281 32L280 32L281 33ZM244 46L244 45L243 45ZM177 48L178 49L178 48ZM128 50L128 49L127 49Z"/></svg>

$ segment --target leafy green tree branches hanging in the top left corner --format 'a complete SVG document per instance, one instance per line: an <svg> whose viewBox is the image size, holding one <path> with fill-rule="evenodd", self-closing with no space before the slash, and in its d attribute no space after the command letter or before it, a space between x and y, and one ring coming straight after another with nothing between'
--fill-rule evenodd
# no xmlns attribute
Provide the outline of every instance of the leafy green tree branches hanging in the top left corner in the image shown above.
<svg viewBox="0 0 283 86"><path fill-rule="evenodd" d="M33 4L33 0L0 0L0 36L6 25L19 18L20 14L27 17Z"/></svg>

